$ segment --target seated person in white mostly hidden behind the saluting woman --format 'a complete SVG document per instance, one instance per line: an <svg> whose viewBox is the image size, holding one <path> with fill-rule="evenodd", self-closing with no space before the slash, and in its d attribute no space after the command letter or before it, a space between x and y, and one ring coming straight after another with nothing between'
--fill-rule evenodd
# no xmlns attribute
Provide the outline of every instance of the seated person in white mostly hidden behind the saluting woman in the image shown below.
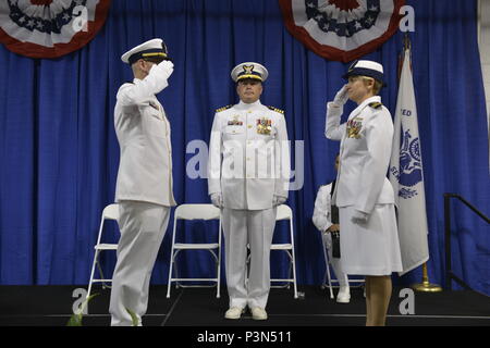
<svg viewBox="0 0 490 348"><path fill-rule="evenodd" d="M339 154L335 157L335 171L339 170ZM347 274L342 270L341 260L332 253L332 234L341 234L339 225L339 209L332 204L331 196L335 187L335 181L330 184L322 185L318 189L317 198L315 199L315 209L313 222L317 229L321 233L323 245L327 247L329 253L329 261L332 265L335 277L339 281L339 294L336 294L336 301L339 303L348 303L351 301L351 287L348 286ZM334 210L338 213L334 213ZM342 238L342 237L341 237ZM342 257L342 256L341 256ZM327 265L328 266L328 265Z"/></svg>

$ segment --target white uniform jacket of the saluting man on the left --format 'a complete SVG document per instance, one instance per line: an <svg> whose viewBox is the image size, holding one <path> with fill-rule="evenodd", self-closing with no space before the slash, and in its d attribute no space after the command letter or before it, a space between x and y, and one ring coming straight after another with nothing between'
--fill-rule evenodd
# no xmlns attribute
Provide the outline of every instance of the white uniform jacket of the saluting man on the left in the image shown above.
<svg viewBox="0 0 490 348"><path fill-rule="evenodd" d="M118 91L114 126L121 148L115 201L137 200L175 206L172 191L170 123L156 94L168 86L154 65L143 80Z"/></svg>

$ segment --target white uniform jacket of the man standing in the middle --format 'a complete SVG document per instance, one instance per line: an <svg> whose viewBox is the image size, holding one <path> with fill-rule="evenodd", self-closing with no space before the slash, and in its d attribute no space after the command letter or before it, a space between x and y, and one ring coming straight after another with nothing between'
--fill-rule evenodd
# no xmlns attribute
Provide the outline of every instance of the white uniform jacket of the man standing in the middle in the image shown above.
<svg viewBox="0 0 490 348"><path fill-rule="evenodd" d="M290 150L282 112L240 102L215 114L209 145L209 195L221 192L229 209L272 208L287 197Z"/></svg>

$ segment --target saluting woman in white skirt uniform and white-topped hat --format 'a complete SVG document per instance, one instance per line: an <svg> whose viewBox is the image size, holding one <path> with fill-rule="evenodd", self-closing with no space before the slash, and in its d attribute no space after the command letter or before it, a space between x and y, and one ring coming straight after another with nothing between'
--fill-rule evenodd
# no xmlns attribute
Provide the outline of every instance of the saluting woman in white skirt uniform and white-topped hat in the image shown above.
<svg viewBox="0 0 490 348"><path fill-rule="evenodd" d="M366 275L366 325L384 325L391 298L391 273L402 271L394 194L387 178L393 122L377 96L383 67L356 61L343 86L327 104L326 136L340 140L340 169L333 202L342 226L342 269ZM358 107L340 124L347 99Z"/></svg>

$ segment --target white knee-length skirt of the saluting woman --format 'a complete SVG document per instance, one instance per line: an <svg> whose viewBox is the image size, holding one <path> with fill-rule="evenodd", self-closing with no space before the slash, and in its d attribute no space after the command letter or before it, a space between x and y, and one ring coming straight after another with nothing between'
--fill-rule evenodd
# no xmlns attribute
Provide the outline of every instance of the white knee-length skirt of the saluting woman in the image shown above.
<svg viewBox="0 0 490 348"><path fill-rule="evenodd" d="M402 272L394 204L376 204L364 225L351 221L354 210L339 209L342 270L359 275Z"/></svg>

